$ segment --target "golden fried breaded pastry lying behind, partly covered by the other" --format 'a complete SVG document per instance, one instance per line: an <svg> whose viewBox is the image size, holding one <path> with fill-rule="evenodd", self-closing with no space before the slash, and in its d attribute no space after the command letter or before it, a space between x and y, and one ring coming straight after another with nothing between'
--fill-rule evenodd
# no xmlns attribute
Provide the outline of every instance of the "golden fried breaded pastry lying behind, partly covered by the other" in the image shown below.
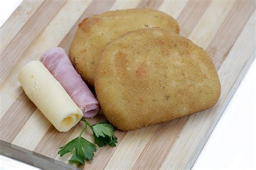
<svg viewBox="0 0 256 170"><path fill-rule="evenodd" d="M130 9L105 12L79 24L69 56L77 72L93 86L96 59L108 42L120 35L147 27L163 27L179 33L179 25L171 16L152 9Z"/></svg>

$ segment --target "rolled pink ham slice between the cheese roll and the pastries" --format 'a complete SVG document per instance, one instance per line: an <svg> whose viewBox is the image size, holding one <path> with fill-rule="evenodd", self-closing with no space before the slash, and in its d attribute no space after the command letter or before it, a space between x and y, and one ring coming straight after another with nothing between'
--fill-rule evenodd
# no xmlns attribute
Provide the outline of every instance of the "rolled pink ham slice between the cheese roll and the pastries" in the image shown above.
<svg viewBox="0 0 256 170"><path fill-rule="evenodd" d="M44 52L40 61L84 112L84 117L93 117L99 111L99 103L81 76L72 66L63 48L55 47Z"/></svg>

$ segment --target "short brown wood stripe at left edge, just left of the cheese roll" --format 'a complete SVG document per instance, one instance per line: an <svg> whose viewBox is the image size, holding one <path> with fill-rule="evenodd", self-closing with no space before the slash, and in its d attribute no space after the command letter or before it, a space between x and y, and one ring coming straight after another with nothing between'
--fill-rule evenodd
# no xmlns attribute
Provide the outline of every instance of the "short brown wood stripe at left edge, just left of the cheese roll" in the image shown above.
<svg viewBox="0 0 256 170"><path fill-rule="evenodd" d="M11 143L35 110L36 105L22 91L22 94L1 118L1 140Z"/></svg>

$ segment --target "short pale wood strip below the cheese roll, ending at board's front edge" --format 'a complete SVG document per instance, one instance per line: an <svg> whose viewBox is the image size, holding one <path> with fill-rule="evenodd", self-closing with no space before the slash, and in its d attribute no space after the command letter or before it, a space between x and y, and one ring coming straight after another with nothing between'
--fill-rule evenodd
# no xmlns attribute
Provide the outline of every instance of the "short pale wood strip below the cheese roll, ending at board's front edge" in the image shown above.
<svg viewBox="0 0 256 170"><path fill-rule="evenodd" d="M11 144L33 151L50 126L48 119L36 109Z"/></svg>

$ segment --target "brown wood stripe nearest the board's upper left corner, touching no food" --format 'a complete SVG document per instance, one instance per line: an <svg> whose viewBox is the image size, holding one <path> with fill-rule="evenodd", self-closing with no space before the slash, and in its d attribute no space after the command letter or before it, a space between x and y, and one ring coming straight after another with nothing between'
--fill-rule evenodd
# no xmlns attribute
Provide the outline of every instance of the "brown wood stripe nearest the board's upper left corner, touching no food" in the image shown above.
<svg viewBox="0 0 256 170"><path fill-rule="evenodd" d="M14 39L4 48L0 54L0 60L3 63L0 69L0 84L8 77L11 70L22 59L26 50L39 37L65 2L58 0L44 1L36 13L22 27L19 33L16 34Z"/></svg>

